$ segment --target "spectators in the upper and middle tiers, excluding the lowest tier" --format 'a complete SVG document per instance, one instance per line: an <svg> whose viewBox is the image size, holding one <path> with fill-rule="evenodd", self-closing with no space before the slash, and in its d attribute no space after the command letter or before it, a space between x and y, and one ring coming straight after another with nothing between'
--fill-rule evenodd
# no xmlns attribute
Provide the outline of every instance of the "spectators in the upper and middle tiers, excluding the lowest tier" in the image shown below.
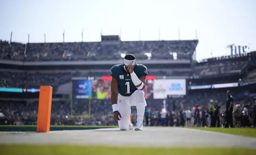
<svg viewBox="0 0 256 155"><path fill-rule="evenodd" d="M0 59L10 60L111 60L121 59L121 53L133 53L138 59L149 59L145 53L151 53L150 59L191 59L197 45L192 41L145 41L120 42L119 45L103 45L101 42L79 43L16 43L0 41ZM20 59L20 56L22 59ZM25 58L25 59L24 59ZM178 70L150 70L149 75L156 76L213 76L229 73L240 73L248 64L248 55L233 55L232 57L217 57L204 59L194 64L191 72ZM109 76L109 70L94 70L85 72L16 72L0 70L0 85L2 87L38 87L39 85L58 86L70 81L74 76Z"/></svg>

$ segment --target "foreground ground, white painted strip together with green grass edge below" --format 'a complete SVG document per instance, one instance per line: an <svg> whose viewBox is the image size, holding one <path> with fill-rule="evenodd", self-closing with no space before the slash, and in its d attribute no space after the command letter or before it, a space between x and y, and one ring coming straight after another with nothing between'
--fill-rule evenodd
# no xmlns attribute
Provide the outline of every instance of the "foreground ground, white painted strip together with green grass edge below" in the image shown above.
<svg viewBox="0 0 256 155"><path fill-rule="evenodd" d="M255 155L256 138L179 127L0 132L1 155Z"/></svg>

